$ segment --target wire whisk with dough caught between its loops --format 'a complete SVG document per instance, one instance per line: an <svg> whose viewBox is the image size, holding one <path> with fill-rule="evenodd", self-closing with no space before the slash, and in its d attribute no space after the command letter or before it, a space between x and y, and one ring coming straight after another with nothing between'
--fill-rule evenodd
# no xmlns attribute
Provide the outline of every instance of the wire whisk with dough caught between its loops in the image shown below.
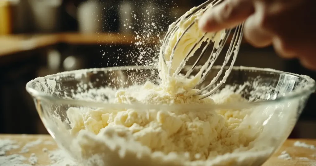
<svg viewBox="0 0 316 166"><path fill-rule="evenodd" d="M193 56L194 52L205 41L206 45L204 46L200 55L197 57L197 60L195 61L195 63L192 65L191 69L189 69L185 75L181 75L181 77L184 77L184 78L188 78L189 76L191 76L191 73L194 70L194 68L196 68L198 62L201 60L201 58L203 56L205 56L205 54L206 54L205 52L213 46L212 52L210 53L210 55L207 55L207 56L209 56L209 58L207 59L205 64L202 65L202 68L198 73L200 79L195 84L195 87L196 87L199 84L204 82L206 76L211 71L216 59L219 57L220 53L222 52L222 49L223 49L225 43L228 41L230 34L232 34L232 32L234 31L234 34L232 35L231 42L229 44L228 51L226 52L226 55L224 58L224 62L222 63L222 67L219 69L217 75L210 81L210 83L208 83L204 88L198 90L195 94L195 95L200 95L201 99L204 99L204 98L214 94L226 82L227 77L229 76L230 72L233 69L234 62L237 58L237 54L238 54L238 51L240 48L240 43L241 43L242 35L243 35L243 23L238 25L236 28L225 29L223 31L216 32L216 33L201 34L200 38L198 38L198 39L196 38L196 36L198 36L198 35L196 35L195 36L196 40L194 40L194 43L192 44L193 46L189 49L188 52L185 53L185 55L180 55L180 56L184 56L184 57L181 59L181 61L175 62L175 63L178 63L175 66L175 68L172 68L173 65L171 65L171 64L173 63L173 61L176 61L176 60L174 60L174 58L179 56L179 55L175 55L175 52L177 49L178 50L181 49L180 48L181 40L185 40L185 41L182 41L182 43L188 42L187 41L188 38L185 36L190 35L189 34L190 30L192 28L197 27L197 18L198 18L197 15L202 15L207 9L218 5L222 1L223 0L208 0L205 3L201 4L200 6L197 6L195 9L192 9L189 12L185 13L176 22L174 22L173 24L171 24L169 26L168 32L162 41L161 49L162 49L162 53L164 53L163 62L164 62L164 64L166 64L168 66L168 74L170 77L179 76L180 71L184 68L188 59ZM185 28L180 29L180 27L183 26L184 22L188 21L190 19L194 19L194 21L189 22L187 25L185 25ZM179 33L180 30L181 30L181 33ZM172 37L176 37L177 40L176 41L173 40L174 38L172 38ZM218 37L220 37L219 41L216 40L216 38L218 38ZM218 43L216 43L217 41L218 41ZM175 42L175 43L173 43L174 46L172 48L168 48L168 46L170 46L171 42ZM172 51L171 51L170 56L167 55L167 57L166 57L165 52L167 52L167 49L171 49ZM231 63L229 65L228 69L226 69L225 66L230 61L231 57L232 57ZM224 76L223 76L222 80L219 81L219 78L223 73L224 73ZM214 86L215 83L217 83L217 84Z"/></svg>

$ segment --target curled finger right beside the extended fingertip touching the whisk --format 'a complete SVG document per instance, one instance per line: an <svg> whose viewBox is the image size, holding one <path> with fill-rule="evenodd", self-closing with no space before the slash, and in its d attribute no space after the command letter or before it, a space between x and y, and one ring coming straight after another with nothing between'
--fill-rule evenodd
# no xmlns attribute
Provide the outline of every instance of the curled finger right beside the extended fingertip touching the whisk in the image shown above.
<svg viewBox="0 0 316 166"><path fill-rule="evenodd" d="M265 47L272 44L272 35L265 31L260 25L261 16L253 14L245 22L244 37L255 47Z"/></svg>

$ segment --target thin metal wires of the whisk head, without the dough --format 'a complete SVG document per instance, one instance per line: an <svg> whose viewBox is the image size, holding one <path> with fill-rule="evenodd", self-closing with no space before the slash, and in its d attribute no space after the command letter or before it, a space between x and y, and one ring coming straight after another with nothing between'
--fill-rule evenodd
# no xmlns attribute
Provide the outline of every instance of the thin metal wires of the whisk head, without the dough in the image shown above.
<svg viewBox="0 0 316 166"><path fill-rule="evenodd" d="M165 52L166 46L169 44L170 41L170 37L172 35L175 35L175 32L179 29L179 27L177 25L179 25L183 20L187 20L190 19L190 17L192 17L192 15L194 15L197 12L202 12L204 13L207 9L214 7L215 5L221 3L223 0L208 0L205 3L201 4L200 6L198 6L196 9L192 10L191 12L187 12L185 15L181 16L174 24L172 24L172 26L169 28L163 43L162 43L162 51ZM174 58L174 52L177 49L177 47L179 47L179 42L181 40L183 40L183 36L188 33L188 31L190 30L190 28L192 28L194 26L194 24L197 24L197 21L192 22L190 25L188 25L186 27L186 29L183 31L183 33L179 36L179 38L177 39L174 47L172 48L172 53L171 56L169 58L169 62L172 62L173 58ZM237 54L240 48L240 43L241 43L241 39L242 39L242 35L243 35L243 23L240 24L239 26L237 26L236 28L233 29L226 29L224 35L221 36L221 41L220 43L218 43L218 45L216 46L215 43L213 42L214 37L216 36L217 33L216 32L214 35L212 35L212 37L208 37L207 34L205 33L203 34L203 36L197 40L197 42L193 45L192 48L190 48L189 53L185 56L185 58L181 61L181 63L179 64L179 66L177 66L177 68L175 69L175 71L173 73L171 73L171 65L168 66L168 72L169 72L169 76L171 77L175 77L176 75L179 75L179 72L184 68L186 61L192 57L192 53L195 52L195 50L197 50L197 47L200 47L203 41L206 41L206 45L204 46L201 54L198 56L197 60L195 61L195 63L192 65L191 69L189 71L187 71L187 73L185 74L185 78L188 78L193 69L197 66L198 62L201 60L201 58L203 56L209 56L208 60L206 61L206 63L203 65L203 67L201 68L200 73L202 72L201 78L199 79L198 83L196 84L199 85L201 83L204 82L206 76L208 75L208 73L210 72L210 70L212 69L216 59L219 57L219 54L221 53L225 43L228 40L229 35L231 34L231 32L234 31L234 34L232 36L232 40L230 42L228 51L226 52L225 58L224 58L224 62L222 63L222 67L220 68L219 72L217 73L216 77L214 77L210 83L208 83L204 88L200 89L197 91L196 95L200 95L201 99L206 98L210 95L212 95L213 93L215 93L221 86L222 84L224 84L226 82L226 78L229 76L230 72L233 69L233 65L234 62L237 58ZM212 43L214 43L214 46L211 45ZM213 46L212 52L210 53L210 55L205 55L206 50L208 50L209 48L211 48L211 46ZM233 56L232 56L233 55ZM163 56L163 60L164 63L166 64L166 59L165 56ZM225 66L228 64L228 62L230 61L232 57L232 61L228 67L228 69L225 69ZM174 69L173 69L174 70ZM225 71L225 72L224 72ZM220 76L222 75L222 73L224 73L224 77L223 79L216 84L216 86L213 86L216 82L218 82Z"/></svg>

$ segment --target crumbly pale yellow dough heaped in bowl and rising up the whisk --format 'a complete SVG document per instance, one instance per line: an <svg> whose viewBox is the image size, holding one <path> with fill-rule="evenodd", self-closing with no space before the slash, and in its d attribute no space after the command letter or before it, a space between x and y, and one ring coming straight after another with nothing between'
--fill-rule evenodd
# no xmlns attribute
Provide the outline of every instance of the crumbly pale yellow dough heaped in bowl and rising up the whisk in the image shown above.
<svg viewBox="0 0 316 166"><path fill-rule="evenodd" d="M199 15L201 13L181 21L166 51L161 52L158 67L160 85L147 82L127 89L109 90L108 93L115 94L114 103L169 104L170 110L159 107L147 111L69 108L70 134L76 138L70 146L73 157L85 165L110 166L251 165L262 163L269 157L273 148L259 145L263 122L257 123L257 126L247 123L247 120L249 122L256 117L252 116L252 110L172 109L173 104L246 101L229 89L199 100L199 96L192 95L197 89L192 88L200 76L183 80L168 75L167 67L171 65L173 73L174 66L179 65L203 35L197 23L194 24L175 50L173 64L162 63L163 58L168 61L177 38ZM218 45L223 33L208 35L211 35L210 38L215 35L214 42Z"/></svg>

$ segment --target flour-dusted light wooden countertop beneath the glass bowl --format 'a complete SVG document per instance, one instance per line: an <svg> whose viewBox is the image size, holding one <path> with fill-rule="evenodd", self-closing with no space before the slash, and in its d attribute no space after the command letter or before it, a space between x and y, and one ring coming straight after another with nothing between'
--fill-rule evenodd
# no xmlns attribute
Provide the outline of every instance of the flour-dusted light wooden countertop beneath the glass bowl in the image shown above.
<svg viewBox="0 0 316 166"><path fill-rule="evenodd" d="M47 166L47 165L52 164L52 161L49 155L47 154L48 152L45 152L46 149L47 151L54 151L58 149L57 145L55 144L53 138L50 135L3 135L3 134L1 135L0 134L0 141L1 139L14 140L20 145L20 148L7 151L6 153L7 156L12 155L12 154L18 154L21 151L22 147L26 145L27 143L40 140L40 142L38 142L38 145L30 146L28 148L29 151L22 154L24 157L28 158L31 156L32 153L34 153L35 156L38 158L38 163L35 165L40 165L40 166ZM295 147L294 142L298 140L306 144L312 144L316 146L315 139L289 139L283 144L283 146L279 149L279 151L277 151L266 163L264 163L264 166L283 166L283 165L316 166L316 149L312 150L309 148ZM285 159L278 158L278 156L281 155L282 151L287 151L287 153L289 153L292 159L285 160ZM25 163L28 163L28 161L26 160Z"/></svg>

